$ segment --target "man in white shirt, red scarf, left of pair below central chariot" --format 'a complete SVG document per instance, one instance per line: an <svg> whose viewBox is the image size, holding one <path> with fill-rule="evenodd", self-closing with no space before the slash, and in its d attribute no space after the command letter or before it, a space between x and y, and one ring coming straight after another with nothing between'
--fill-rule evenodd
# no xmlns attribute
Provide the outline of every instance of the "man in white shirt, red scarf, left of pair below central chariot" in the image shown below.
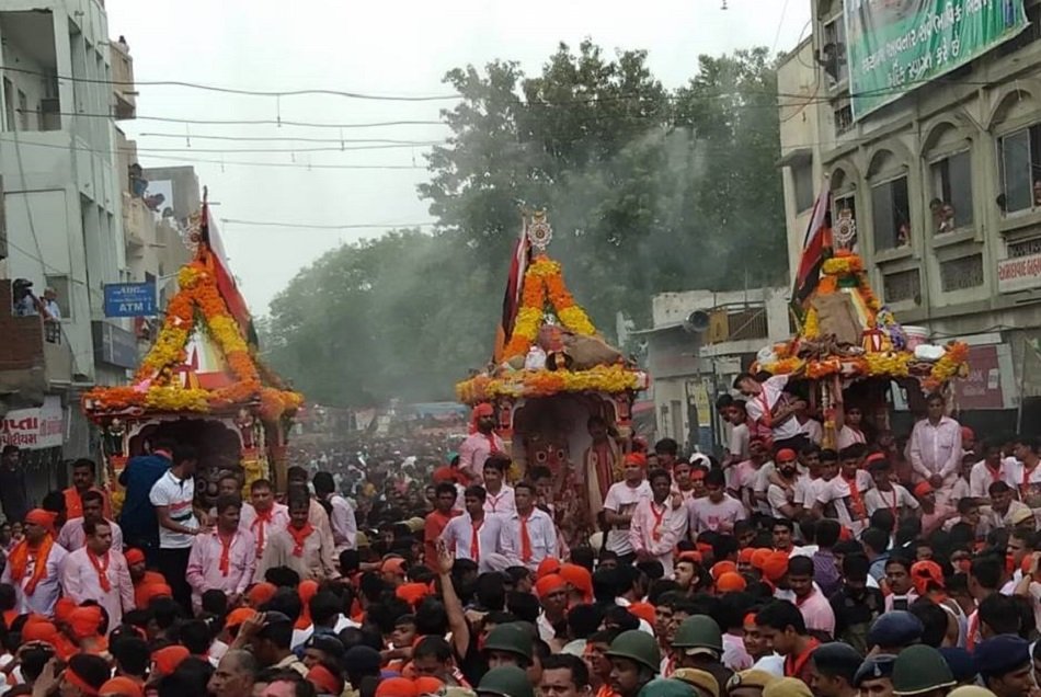
<svg viewBox="0 0 1041 697"><path fill-rule="evenodd" d="M448 521L441 539L456 559L469 559L478 570L502 571L517 563L517 552L507 534L506 519L484 513L484 487L467 487L464 494L466 511Z"/></svg>

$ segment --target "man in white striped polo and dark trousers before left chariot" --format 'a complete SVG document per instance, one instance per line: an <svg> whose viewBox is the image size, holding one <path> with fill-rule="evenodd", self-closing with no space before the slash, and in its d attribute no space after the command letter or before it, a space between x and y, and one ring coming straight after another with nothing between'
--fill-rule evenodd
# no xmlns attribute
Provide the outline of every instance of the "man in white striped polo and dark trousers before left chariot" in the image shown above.
<svg viewBox="0 0 1041 697"><path fill-rule="evenodd" d="M187 582L192 541L199 532L195 515L195 467L198 456L190 445L173 450L173 465L152 485L149 500L159 518L159 571L175 599L192 613L192 587ZM208 523L208 521L207 521Z"/></svg>

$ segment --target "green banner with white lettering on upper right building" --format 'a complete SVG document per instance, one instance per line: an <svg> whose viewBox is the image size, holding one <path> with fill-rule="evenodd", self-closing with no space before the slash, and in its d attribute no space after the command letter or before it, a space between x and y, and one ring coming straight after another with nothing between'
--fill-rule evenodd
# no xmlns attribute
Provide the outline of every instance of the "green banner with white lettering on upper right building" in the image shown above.
<svg viewBox="0 0 1041 697"><path fill-rule="evenodd" d="M854 118L1027 26L1022 0L846 0L844 19Z"/></svg>

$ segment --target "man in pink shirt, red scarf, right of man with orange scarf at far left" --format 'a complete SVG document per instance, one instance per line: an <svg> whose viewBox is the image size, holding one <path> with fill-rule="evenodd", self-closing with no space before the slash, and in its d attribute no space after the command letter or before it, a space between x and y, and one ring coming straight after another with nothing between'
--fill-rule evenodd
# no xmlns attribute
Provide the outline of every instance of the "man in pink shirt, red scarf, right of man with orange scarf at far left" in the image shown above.
<svg viewBox="0 0 1041 697"><path fill-rule="evenodd" d="M94 601L108 614L108 628L119 626L123 613L134 609L134 583L123 552L112 549L107 522L83 524L87 542L61 564L61 589L77 605Z"/></svg>

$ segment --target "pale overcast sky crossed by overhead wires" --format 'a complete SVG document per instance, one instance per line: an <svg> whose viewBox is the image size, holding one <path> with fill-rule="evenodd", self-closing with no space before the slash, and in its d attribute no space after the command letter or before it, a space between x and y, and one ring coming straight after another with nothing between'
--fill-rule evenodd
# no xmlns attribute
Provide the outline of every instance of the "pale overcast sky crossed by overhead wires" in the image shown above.
<svg viewBox="0 0 1041 697"><path fill-rule="evenodd" d="M606 50L648 50L653 75L676 88L694 77L699 55L794 47L809 31L810 1L727 0L725 10L723 0L105 4L108 33L126 37L138 82L138 118L121 122L121 128L137 141L144 167L195 167L242 293L253 313L263 316L272 298L325 251L394 226L433 222L416 184L427 179L428 144L448 133L439 124L319 128L286 122L437 122L455 102L415 98L450 96L442 81L448 70L497 58L536 75L559 42L576 46L584 38ZM275 98L148 84L171 81L410 100ZM293 227L304 225L365 227Z"/></svg>

